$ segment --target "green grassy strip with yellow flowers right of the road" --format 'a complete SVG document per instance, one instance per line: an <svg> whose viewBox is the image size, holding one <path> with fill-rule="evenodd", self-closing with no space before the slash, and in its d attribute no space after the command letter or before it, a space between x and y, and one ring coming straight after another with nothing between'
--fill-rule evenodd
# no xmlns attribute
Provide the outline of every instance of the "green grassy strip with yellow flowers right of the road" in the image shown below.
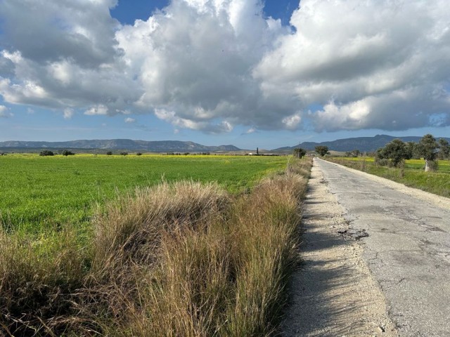
<svg viewBox="0 0 450 337"><path fill-rule="evenodd" d="M423 159L406 160L404 170L378 166L371 157L326 157L326 159L352 169L397 181L397 183L409 187L418 188L442 197L450 197L450 161L438 161L437 172L425 172L423 170L425 167Z"/></svg>

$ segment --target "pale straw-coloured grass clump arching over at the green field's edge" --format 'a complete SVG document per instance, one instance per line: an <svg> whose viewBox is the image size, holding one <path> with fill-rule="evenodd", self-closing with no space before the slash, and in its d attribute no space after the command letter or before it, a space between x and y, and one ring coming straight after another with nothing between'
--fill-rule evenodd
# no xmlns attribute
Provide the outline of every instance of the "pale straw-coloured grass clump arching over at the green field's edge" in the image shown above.
<svg viewBox="0 0 450 337"><path fill-rule="evenodd" d="M121 197L94 222L93 275L108 277L117 263L122 267L127 260L152 265L163 231L195 229L218 216L228 202L217 184L192 181L162 183Z"/></svg>

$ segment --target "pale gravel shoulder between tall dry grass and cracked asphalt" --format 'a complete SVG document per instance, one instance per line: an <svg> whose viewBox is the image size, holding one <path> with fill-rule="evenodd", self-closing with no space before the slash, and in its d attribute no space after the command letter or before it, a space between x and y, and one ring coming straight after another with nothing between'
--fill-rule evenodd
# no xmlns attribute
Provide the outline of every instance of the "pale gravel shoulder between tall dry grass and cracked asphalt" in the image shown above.
<svg viewBox="0 0 450 337"><path fill-rule="evenodd" d="M302 220L302 263L279 336L398 336L344 209L314 164Z"/></svg>

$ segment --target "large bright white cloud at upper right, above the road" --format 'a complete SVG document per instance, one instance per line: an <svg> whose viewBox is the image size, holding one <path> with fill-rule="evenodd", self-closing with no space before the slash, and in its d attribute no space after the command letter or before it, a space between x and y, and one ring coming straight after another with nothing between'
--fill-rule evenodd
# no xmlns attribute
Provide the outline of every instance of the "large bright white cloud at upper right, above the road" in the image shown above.
<svg viewBox="0 0 450 337"><path fill-rule="evenodd" d="M317 131L427 126L449 114L448 13L448 1L303 0L254 76L267 97L323 105L306 115Z"/></svg>

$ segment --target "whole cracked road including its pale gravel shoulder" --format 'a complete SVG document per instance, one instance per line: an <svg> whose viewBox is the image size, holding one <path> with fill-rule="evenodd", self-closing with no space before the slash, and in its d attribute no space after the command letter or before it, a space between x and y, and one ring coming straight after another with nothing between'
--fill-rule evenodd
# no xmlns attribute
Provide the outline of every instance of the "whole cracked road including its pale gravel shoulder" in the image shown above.
<svg viewBox="0 0 450 337"><path fill-rule="evenodd" d="M320 159L308 197L284 336L450 336L449 199Z"/></svg>

